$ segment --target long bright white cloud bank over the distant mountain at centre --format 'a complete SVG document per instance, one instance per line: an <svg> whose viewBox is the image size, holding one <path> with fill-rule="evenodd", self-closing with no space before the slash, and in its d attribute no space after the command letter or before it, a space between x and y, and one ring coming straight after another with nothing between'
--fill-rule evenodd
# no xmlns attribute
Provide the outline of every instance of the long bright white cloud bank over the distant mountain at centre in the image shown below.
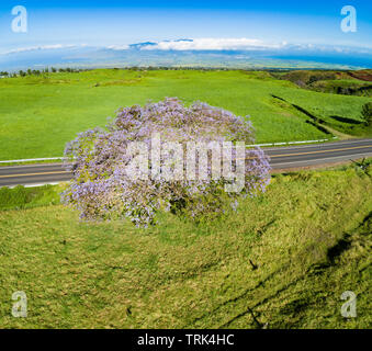
<svg viewBox="0 0 372 351"><path fill-rule="evenodd" d="M259 39L246 37L240 38L195 38L184 41L165 41L156 45L147 45L142 49L146 50L245 50L245 49L268 49L281 48L286 43L268 44Z"/></svg>

